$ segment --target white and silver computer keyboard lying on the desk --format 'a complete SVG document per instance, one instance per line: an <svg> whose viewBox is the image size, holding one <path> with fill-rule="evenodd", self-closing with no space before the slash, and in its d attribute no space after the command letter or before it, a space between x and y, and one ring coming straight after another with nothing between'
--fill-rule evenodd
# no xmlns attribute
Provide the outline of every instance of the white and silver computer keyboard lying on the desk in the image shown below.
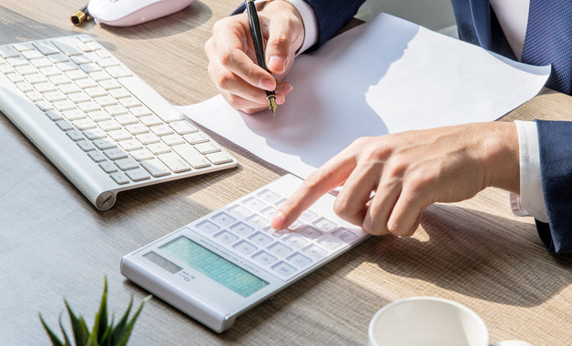
<svg viewBox="0 0 572 346"><path fill-rule="evenodd" d="M0 111L101 210L238 164L90 36L0 46Z"/></svg>

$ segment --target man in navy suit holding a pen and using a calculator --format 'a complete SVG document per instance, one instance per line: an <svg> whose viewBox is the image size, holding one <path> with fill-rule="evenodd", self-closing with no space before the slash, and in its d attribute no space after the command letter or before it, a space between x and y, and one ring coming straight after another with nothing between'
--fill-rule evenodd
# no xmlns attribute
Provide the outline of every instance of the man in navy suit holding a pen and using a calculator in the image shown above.
<svg viewBox="0 0 572 346"><path fill-rule="evenodd" d="M526 57L535 63L529 57L531 50L525 49L525 36L526 23L533 23L530 27L542 24L530 22L536 20L532 9L536 10L539 1L453 0L459 36L499 54L519 60ZM260 22L268 37L267 66L273 76L253 63L248 19L239 8L237 15L214 26L205 45L213 83L232 107L249 114L267 107L264 90L276 89L280 105L293 87L282 79L295 56L321 46L362 3L260 3ZM572 18L571 10L563 11L570 11L566 14ZM553 83L563 79L560 61L547 63L558 67L548 86L561 87ZM563 90L569 93L569 80L565 82ZM517 214L535 217L546 249L571 252L570 133L572 122L490 122L358 138L307 178L281 206L271 225L288 227L322 194L343 185L334 206L342 219L375 235L409 236L430 204L472 198L484 188L496 187L511 193L511 207ZM369 200L372 191L376 194Z"/></svg>

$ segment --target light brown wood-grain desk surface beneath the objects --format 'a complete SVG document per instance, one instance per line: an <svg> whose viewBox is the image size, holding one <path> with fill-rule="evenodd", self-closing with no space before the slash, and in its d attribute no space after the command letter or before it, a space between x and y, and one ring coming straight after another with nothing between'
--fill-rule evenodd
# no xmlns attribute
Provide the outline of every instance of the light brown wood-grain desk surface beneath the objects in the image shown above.
<svg viewBox="0 0 572 346"><path fill-rule="evenodd" d="M167 18L128 28L69 23L79 0L4 0L0 44L86 33L174 104L212 97L203 45L238 1L200 1ZM506 119L572 120L572 98L546 91ZM119 195L97 211L4 116L0 116L0 343L47 344L37 318L57 325L63 297L89 324L107 275L109 309L147 292L119 273L121 257L259 188L281 171L220 143L240 167ZM366 344L374 312L411 296L459 301L480 314L492 341L572 342L572 261L514 217L503 191L426 210L414 238L369 239L216 334L168 304L148 302L132 345ZM67 326L67 319L64 316ZM69 327L66 327L69 331Z"/></svg>

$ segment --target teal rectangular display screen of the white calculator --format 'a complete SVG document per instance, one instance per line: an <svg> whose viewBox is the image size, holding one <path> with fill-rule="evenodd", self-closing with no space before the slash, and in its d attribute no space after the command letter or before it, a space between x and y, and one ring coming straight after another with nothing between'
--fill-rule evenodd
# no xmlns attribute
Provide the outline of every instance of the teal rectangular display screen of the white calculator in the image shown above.
<svg viewBox="0 0 572 346"><path fill-rule="evenodd" d="M242 297L248 297L269 284L184 236L169 241L160 249L183 260L190 268L199 270Z"/></svg>

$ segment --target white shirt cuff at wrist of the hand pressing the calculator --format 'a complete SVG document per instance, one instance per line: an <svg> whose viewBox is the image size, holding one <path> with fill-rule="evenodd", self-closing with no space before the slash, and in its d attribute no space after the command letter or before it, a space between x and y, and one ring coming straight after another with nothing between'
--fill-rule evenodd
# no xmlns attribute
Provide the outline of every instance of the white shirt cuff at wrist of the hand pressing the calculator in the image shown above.
<svg viewBox="0 0 572 346"><path fill-rule="evenodd" d="M520 195L510 193L511 209L517 216L532 216L539 221L548 222L540 176L536 123L515 121L515 124L520 152Z"/></svg>

